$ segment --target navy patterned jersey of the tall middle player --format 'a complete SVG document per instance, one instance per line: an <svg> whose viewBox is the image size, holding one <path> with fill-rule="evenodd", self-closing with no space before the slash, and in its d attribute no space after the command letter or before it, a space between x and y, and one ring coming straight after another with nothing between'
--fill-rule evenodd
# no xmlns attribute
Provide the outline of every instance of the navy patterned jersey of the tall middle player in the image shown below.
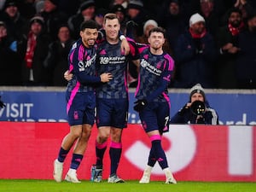
<svg viewBox="0 0 256 192"><path fill-rule="evenodd" d="M98 45L96 71L98 75L111 73L113 79L96 89L97 98L121 99L128 97L127 61L139 58L137 46L134 41L128 40L130 55L121 53L120 41L118 44L108 44L103 41Z"/></svg>

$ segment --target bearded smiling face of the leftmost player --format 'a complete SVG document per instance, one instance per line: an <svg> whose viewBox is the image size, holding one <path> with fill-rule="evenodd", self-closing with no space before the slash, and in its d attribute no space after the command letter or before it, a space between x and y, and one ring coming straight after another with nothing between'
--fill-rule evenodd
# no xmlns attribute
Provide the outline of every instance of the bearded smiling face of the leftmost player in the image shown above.
<svg viewBox="0 0 256 192"><path fill-rule="evenodd" d="M80 31L80 37L82 38L84 46L90 48L96 42L96 38L98 37L98 30L85 28L84 31Z"/></svg>

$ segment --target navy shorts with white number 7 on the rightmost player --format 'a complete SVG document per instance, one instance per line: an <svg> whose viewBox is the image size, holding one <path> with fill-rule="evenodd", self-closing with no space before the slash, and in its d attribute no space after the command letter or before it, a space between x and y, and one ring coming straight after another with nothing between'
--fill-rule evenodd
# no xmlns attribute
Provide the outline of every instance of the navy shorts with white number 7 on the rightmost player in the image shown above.
<svg viewBox="0 0 256 192"><path fill-rule="evenodd" d="M169 131L170 105L168 102L149 102L139 116L144 131L159 130L160 134Z"/></svg>

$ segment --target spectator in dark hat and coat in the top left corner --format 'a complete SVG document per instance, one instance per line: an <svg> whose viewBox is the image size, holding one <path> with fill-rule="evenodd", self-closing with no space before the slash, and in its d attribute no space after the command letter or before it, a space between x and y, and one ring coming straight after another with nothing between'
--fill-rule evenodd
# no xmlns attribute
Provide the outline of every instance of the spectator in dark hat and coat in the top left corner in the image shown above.
<svg viewBox="0 0 256 192"><path fill-rule="evenodd" d="M24 32L27 20L20 15L17 3L15 0L6 0L3 7L3 15L1 16L4 21L9 36L19 40L20 32Z"/></svg>

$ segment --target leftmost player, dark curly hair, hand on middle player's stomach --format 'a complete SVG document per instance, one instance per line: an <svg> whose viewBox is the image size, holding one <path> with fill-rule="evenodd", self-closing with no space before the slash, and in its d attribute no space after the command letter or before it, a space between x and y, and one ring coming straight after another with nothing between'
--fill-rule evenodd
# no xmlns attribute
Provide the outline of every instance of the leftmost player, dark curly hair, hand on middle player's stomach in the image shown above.
<svg viewBox="0 0 256 192"><path fill-rule="evenodd" d="M61 182L63 162L73 148L71 166L65 179L68 182L80 183L77 169L84 157L84 151L90 138L90 131L95 122L96 94L95 85L112 79L110 73L96 76L96 47L98 36L97 24L93 20L84 21L80 27L79 40L73 44L68 55L69 73L73 78L67 84L67 120L70 132L63 138L58 158L54 161L54 178Z"/></svg>

